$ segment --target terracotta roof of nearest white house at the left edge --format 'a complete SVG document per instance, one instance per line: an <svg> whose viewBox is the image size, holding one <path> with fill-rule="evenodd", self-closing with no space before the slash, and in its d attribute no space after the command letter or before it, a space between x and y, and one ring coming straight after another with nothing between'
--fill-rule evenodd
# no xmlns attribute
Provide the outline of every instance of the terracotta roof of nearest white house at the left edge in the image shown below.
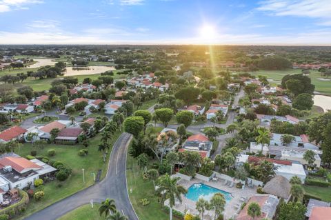
<svg viewBox="0 0 331 220"><path fill-rule="evenodd" d="M3 157L0 159L0 168L5 166L11 166L17 172L41 168L41 166L23 157Z"/></svg>

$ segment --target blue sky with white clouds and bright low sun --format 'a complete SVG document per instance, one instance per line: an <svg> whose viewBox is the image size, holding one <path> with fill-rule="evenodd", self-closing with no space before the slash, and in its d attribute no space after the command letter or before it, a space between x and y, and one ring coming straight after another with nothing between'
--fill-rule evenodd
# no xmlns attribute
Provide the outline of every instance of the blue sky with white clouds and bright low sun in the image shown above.
<svg viewBox="0 0 331 220"><path fill-rule="evenodd" d="M0 44L331 46L331 0L0 0Z"/></svg>

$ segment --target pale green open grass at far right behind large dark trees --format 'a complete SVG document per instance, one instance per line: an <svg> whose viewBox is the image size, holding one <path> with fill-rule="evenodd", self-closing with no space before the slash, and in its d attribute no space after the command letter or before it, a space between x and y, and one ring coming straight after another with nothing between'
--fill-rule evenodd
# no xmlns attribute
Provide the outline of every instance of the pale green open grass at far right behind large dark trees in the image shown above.
<svg viewBox="0 0 331 220"><path fill-rule="evenodd" d="M298 74L301 73L301 70L289 69L289 70L259 70L257 72L252 72L255 76L264 75L268 79L273 79L270 83L279 84L281 79L286 74ZM310 70L310 78L312 79L312 84L315 85L315 90L321 92L322 94L331 95L331 81L322 81L321 72L317 70Z"/></svg>

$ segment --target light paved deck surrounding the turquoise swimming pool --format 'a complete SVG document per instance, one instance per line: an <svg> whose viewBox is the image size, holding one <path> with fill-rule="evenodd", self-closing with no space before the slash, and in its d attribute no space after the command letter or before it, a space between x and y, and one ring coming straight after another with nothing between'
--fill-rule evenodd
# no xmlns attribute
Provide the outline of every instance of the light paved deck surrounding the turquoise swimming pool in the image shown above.
<svg viewBox="0 0 331 220"><path fill-rule="evenodd" d="M219 190L229 192L232 195L232 199L225 205L225 210L223 212L224 219L230 219L234 217L234 214L237 214L241 210L240 207L241 204L243 203L243 201L240 201L241 197L245 197L246 198L245 201L248 201L250 197L252 197L254 194L257 194L257 188L248 188L248 186L245 186L244 189L239 189L236 188L235 185L232 188L225 186L223 185L224 183L223 179L218 179L217 181L209 181L209 182L201 181L200 179L192 179L189 182L185 181L185 182L181 182L180 184L181 186L184 186L186 189L188 189L194 183L203 183L207 186L211 186L213 188L217 188ZM179 210L180 212L183 213L185 213L187 210L190 210L191 214L196 214L196 215L199 214L199 212L197 212L197 210L195 209L195 201L187 199L185 196L182 196L182 199L183 199L182 203L177 202L176 205L174 206L175 210ZM165 202L165 204L167 204L167 201ZM239 204L239 208L235 207L237 204ZM204 219L205 220L214 219L214 211L206 210Z"/></svg>

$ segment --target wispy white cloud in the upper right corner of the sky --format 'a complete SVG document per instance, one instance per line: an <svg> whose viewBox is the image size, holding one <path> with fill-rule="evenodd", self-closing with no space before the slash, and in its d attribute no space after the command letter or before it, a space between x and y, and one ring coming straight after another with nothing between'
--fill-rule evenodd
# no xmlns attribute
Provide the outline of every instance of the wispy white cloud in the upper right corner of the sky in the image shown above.
<svg viewBox="0 0 331 220"><path fill-rule="evenodd" d="M275 16L295 16L321 19L321 24L331 22L330 0L264 0L259 2L259 11Z"/></svg>

